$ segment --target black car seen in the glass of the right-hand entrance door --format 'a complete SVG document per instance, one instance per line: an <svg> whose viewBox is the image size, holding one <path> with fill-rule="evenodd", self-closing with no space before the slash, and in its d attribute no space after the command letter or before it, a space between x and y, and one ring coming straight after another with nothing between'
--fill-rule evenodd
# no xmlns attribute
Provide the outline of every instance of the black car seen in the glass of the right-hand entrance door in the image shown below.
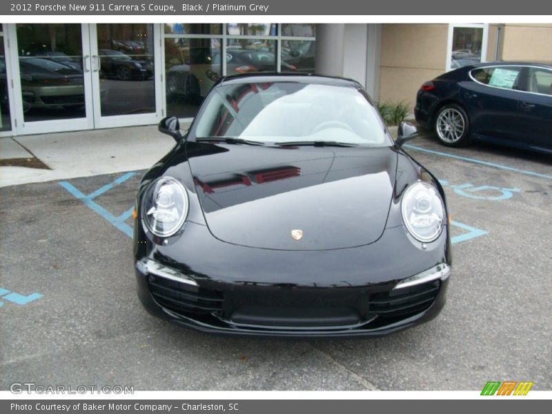
<svg viewBox="0 0 552 414"><path fill-rule="evenodd" d="M101 72L120 81L146 80L153 75L153 65L147 59L132 59L118 50L98 50Z"/></svg>

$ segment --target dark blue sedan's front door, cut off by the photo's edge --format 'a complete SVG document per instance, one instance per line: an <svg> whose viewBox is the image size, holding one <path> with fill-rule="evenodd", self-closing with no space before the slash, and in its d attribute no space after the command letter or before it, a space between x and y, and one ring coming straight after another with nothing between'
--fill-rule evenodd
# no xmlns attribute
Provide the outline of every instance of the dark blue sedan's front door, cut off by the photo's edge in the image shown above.
<svg viewBox="0 0 552 414"><path fill-rule="evenodd" d="M552 150L552 69L527 66L522 75L524 91L518 111L524 133L520 139L529 146Z"/></svg>

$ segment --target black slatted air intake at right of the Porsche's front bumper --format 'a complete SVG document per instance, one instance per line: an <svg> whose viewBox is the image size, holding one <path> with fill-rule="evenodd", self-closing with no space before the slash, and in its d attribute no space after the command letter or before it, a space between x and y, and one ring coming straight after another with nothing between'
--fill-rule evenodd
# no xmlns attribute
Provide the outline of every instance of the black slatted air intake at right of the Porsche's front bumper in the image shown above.
<svg viewBox="0 0 552 414"><path fill-rule="evenodd" d="M382 293L373 293L368 297L368 312L378 316L382 324L391 324L426 311L439 293L440 281L435 280Z"/></svg>

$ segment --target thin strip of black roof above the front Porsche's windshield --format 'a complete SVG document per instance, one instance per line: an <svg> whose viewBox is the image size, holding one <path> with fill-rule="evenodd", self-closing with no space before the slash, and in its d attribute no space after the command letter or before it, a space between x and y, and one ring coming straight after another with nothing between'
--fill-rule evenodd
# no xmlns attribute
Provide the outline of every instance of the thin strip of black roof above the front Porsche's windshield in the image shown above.
<svg viewBox="0 0 552 414"><path fill-rule="evenodd" d="M360 83L353 79L297 72L257 72L244 75L230 75L226 77L221 77L221 79L219 79L217 83L215 83L215 86L239 85L243 83L275 82L313 83L319 85L343 86L347 88L364 89Z"/></svg>

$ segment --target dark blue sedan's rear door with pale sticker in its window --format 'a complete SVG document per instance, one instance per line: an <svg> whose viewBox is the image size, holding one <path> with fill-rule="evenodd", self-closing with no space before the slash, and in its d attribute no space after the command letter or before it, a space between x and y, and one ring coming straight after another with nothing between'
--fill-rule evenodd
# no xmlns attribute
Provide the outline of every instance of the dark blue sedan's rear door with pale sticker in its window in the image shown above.
<svg viewBox="0 0 552 414"><path fill-rule="evenodd" d="M469 72L469 81L460 82L460 99L474 135L501 141L520 134L517 84L520 66L485 66Z"/></svg>

